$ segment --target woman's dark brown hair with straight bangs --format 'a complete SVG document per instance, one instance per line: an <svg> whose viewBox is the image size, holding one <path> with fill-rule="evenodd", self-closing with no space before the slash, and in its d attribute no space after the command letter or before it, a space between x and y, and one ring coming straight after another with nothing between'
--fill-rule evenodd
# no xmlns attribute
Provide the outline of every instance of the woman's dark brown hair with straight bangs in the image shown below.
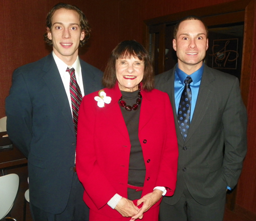
<svg viewBox="0 0 256 221"><path fill-rule="evenodd" d="M122 41L112 51L102 78L102 83L105 87L113 88L117 82L116 61L123 58L130 59L131 56L138 57L139 60L144 61L142 89L147 91L154 89L154 72L150 57L146 49L135 40Z"/></svg>

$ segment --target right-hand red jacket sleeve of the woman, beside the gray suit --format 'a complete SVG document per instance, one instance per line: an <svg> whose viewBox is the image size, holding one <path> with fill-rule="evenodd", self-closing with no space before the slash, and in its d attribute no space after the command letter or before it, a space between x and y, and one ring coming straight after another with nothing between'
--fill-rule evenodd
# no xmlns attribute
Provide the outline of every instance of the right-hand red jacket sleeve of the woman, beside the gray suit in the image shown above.
<svg viewBox="0 0 256 221"><path fill-rule="evenodd" d="M157 186L167 187L166 196L174 194L177 180L177 160L178 147L177 137L174 124L174 115L172 114L172 107L170 99L166 93L164 115L167 122L166 139L163 145L162 159L160 161L160 168L158 173Z"/></svg>

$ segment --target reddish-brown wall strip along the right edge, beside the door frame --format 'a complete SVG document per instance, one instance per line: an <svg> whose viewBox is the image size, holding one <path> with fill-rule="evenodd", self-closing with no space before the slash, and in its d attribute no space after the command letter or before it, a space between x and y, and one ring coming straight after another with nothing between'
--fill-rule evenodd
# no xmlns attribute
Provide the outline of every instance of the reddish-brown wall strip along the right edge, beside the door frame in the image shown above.
<svg viewBox="0 0 256 221"><path fill-rule="evenodd" d="M256 11L256 4L251 4L247 10ZM244 53L249 53L251 55L251 63L249 61L245 62L245 65L251 65L254 70L251 72L250 84L245 85L249 87L249 96L247 100L247 112L248 112L248 127L247 127L247 139L248 139L248 149L245 162L243 164L243 171L240 177L239 182L239 191L237 192L237 204L242 208L247 209L248 211L254 212L256 214L256 45L255 45L255 36L256 36L256 18L246 18L254 19L254 27L245 27L247 31L254 32L254 45L251 48L245 48ZM242 82L241 82L242 83ZM243 211L243 210L241 210ZM254 216L256 217L256 216Z"/></svg>

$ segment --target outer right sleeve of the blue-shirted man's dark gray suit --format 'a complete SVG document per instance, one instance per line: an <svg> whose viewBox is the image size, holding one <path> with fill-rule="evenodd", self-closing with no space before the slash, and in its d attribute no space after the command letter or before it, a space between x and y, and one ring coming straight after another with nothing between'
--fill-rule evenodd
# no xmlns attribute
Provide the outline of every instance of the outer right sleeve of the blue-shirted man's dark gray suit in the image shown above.
<svg viewBox="0 0 256 221"><path fill-rule="evenodd" d="M225 139L224 177L228 186L233 189L241 174L247 149L247 114L237 78L230 91L222 122Z"/></svg>

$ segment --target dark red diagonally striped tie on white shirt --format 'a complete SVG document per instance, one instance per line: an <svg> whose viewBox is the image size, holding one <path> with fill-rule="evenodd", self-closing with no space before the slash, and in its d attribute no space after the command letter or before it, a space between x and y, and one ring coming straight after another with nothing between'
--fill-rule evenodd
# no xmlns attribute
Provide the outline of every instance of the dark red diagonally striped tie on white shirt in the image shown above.
<svg viewBox="0 0 256 221"><path fill-rule="evenodd" d="M76 81L75 69L67 68L66 72L70 74L70 84L69 90L71 95L71 105L72 105L72 114L73 114L73 122L75 126L75 132L77 134L77 120L78 120L78 112L79 107L82 101L82 94L79 85Z"/></svg>

